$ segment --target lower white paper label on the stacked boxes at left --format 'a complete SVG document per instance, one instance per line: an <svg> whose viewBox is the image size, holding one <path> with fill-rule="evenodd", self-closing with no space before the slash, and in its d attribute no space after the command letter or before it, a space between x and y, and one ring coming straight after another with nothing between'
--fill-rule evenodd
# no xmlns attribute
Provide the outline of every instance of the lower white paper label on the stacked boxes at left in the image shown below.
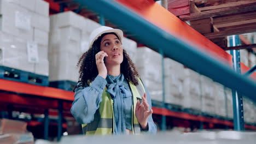
<svg viewBox="0 0 256 144"><path fill-rule="evenodd" d="M37 49L37 43L34 41L27 41L27 56L28 56L28 62L30 63L38 63L38 49Z"/></svg>

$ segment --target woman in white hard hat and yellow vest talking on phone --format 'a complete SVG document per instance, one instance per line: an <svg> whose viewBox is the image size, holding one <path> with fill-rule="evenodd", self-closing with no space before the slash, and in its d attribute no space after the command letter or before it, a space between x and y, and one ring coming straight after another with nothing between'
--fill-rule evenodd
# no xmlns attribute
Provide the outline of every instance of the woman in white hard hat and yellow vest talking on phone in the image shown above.
<svg viewBox="0 0 256 144"><path fill-rule="evenodd" d="M120 29L99 27L80 57L71 113L86 135L156 133L148 90L121 41Z"/></svg>

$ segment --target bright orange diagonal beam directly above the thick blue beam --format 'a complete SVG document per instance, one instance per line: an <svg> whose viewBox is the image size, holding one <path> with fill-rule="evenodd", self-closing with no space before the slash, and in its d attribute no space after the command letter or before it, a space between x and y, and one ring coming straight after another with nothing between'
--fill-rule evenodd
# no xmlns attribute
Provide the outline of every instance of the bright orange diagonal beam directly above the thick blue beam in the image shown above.
<svg viewBox="0 0 256 144"><path fill-rule="evenodd" d="M232 56L214 44L211 40L191 28L153 0L115 0L124 7L137 13L139 16L153 23L186 43L197 45L200 50L209 53L216 59L232 65ZM244 69L244 68L242 68Z"/></svg>

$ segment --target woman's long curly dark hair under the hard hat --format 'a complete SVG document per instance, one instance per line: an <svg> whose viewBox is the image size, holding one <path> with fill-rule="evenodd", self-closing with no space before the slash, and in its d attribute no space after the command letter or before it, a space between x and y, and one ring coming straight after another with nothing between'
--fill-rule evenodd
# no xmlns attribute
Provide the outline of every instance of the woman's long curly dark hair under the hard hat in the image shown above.
<svg viewBox="0 0 256 144"><path fill-rule="evenodd" d="M80 66L79 69L79 86L88 87L89 84L94 81L96 76L98 75L98 69L96 66L95 55L100 52L100 44L101 39L104 35L107 34L115 34L115 33L104 33L97 40L94 41L91 48L83 53L83 55L79 58L77 66ZM115 34L119 39L118 35ZM123 50L123 62L121 63L121 73L124 74L124 77L127 81L132 82L134 85L138 85L137 78L139 77L138 71L136 70L135 64L131 61L131 58ZM76 88L76 87L75 87ZM75 89L74 88L74 89Z"/></svg>

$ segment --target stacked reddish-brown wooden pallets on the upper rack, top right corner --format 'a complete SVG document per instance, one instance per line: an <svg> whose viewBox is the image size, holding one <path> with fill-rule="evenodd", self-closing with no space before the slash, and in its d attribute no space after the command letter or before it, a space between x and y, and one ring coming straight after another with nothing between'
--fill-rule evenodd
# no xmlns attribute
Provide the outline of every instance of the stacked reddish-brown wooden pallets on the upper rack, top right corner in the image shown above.
<svg viewBox="0 0 256 144"><path fill-rule="evenodd" d="M225 50L232 49L227 47L226 36L255 32L255 10L254 0L168 0L168 11L189 21L191 27Z"/></svg>

